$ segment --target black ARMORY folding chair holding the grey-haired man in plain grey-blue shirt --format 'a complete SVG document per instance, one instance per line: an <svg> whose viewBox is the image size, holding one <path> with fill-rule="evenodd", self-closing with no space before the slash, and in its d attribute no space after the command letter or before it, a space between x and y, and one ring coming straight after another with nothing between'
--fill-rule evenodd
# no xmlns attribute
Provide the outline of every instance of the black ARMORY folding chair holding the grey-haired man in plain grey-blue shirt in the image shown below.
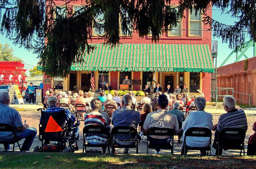
<svg viewBox="0 0 256 169"><path fill-rule="evenodd" d="M115 142L114 137L117 135L130 135L133 136L132 138L136 138L136 142L135 143L131 143L131 144L118 144ZM117 126L112 128L111 130L111 137L112 137L112 153L114 153L114 148L136 148L136 153L138 154L138 132L137 129L135 129L134 127L131 126ZM117 139L118 141L132 141L132 139L128 139L128 140L120 140L118 138L115 137L115 139Z"/></svg>

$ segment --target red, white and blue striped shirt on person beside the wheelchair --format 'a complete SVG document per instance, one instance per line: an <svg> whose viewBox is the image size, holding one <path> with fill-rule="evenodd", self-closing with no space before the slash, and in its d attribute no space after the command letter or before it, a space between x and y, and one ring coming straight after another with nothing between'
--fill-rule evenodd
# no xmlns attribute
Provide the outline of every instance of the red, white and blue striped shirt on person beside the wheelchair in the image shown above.
<svg viewBox="0 0 256 169"><path fill-rule="evenodd" d="M85 114L84 126L92 124L103 125L105 127L109 126L108 117L98 111ZM90 144L106 144L108 142L107 136L103 134L86 134L85 139Z"/></svg>

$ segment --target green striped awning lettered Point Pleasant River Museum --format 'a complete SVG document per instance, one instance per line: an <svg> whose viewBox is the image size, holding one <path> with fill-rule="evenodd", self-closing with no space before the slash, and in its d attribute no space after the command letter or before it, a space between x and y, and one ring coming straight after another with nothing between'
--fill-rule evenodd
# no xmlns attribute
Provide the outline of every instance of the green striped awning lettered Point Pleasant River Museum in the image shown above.
<svg viewBox="0 0 256 169"><path fill-rule="evenodd" d="M92 44L96 49L75 63L76 71L214 72L209 45Z"/></svg>

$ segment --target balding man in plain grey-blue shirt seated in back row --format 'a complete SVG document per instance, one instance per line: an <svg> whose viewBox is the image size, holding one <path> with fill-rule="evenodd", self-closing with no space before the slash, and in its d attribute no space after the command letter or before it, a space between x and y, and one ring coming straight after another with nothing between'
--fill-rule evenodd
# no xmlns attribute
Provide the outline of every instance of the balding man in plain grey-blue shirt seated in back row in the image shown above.
<svg viewBox="0 0 256 169"><path fill-rule="evenodd" d="M132 105L132 96L123 95L121 110L116 110L112 113L112 124L116 126L132 126L137 129L138 124L140 123L140 112L134 111L131 109ZM129 140L131 141L120 141L120 140ZM131 144L136 142L136 137L129 135L116 135L114 136L114 141L118 144ZM115 150L114 150L115 151ZM124 153L128 153L129 148L124 148ZM116 152L115 152L116 153Z"/></svg>

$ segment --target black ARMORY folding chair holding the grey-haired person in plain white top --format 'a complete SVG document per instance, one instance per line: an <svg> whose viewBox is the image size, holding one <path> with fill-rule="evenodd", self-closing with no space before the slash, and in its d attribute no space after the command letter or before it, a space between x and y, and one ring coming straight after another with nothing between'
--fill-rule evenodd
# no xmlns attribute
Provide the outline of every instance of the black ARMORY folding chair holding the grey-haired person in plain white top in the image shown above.
<svg viewBox="0 0 256 169"><path fill-rule="evenodd" d="M209 137L209 145L206 147L190 147L186 144L186 137ZM204 127L191 127L185 132L183 154L186 153L186 150L206 150L208 155L210 150L210 155L211 155L211 140L212 140L211 129L204 128Z"/></svg>

